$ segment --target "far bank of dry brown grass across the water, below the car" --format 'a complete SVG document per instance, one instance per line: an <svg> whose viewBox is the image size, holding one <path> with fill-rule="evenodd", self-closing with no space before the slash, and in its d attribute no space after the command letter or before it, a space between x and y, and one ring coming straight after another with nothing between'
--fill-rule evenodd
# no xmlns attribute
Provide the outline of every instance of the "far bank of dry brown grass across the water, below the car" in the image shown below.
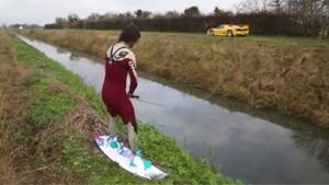
<svg viewBox="0 0 329 185"><path fill-rule="evenodd" d="M24 31L23 35L104 58L117 32ZM144 33L139 70L212 94L276 108L329 127L329 42Z"/></svg>

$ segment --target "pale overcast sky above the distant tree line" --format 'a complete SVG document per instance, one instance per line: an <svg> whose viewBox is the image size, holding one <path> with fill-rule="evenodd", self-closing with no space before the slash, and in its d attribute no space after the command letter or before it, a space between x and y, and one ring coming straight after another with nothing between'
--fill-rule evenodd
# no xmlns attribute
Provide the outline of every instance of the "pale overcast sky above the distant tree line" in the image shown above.
<svg viewBox="0 0 329 185"><path fill-rule="evenodd" d="M13 23L52 23L56 16L77 13L86 18L92 12L127 12L138 9L151 12L177 10L197 5L203 13L215 7L234 10L241 0L0 0L0 25Z"/></svg>

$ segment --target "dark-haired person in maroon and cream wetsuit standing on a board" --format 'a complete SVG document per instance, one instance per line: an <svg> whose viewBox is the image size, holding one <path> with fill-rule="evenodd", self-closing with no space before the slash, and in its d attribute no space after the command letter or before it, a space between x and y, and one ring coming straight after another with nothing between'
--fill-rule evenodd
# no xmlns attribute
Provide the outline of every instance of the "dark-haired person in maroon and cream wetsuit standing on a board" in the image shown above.
<svg viewBox="0 0 329 185"><path fill-rule="evenodd" d="M127 126L128 143L133 152L138 150L138 128L135 111L131 102L137 88L136 57L131 48L139 41L140 32L134 24L126 25L118 41L109 47L105 56L105 79L102 89L102 99L111 114L111 125L118 117ZM126 92L127 76L129 89Z"/></svg>

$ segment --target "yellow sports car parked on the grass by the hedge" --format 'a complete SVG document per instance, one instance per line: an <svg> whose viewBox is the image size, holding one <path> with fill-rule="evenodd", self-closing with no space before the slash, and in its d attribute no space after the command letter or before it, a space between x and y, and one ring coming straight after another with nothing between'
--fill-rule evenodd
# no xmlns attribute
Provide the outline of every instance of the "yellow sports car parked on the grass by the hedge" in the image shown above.
<svg viewBox="0 0 329 185"><path fill-rule="evenodd" d="M209 28L207 35L246 36L249 35L249 25L222 24L218 27Z"/></svg>

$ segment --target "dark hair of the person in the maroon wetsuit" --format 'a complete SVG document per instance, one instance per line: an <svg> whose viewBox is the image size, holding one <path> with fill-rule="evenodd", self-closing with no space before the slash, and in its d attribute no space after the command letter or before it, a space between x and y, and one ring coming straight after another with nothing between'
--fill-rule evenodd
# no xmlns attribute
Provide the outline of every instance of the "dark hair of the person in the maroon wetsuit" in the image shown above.
<svg viewBox="0 0 329 185"><path fill-rule="evenodd" d="M139 28L135 24L127 24L123 27L118 42L136 43L140 38Z"/></svg>

